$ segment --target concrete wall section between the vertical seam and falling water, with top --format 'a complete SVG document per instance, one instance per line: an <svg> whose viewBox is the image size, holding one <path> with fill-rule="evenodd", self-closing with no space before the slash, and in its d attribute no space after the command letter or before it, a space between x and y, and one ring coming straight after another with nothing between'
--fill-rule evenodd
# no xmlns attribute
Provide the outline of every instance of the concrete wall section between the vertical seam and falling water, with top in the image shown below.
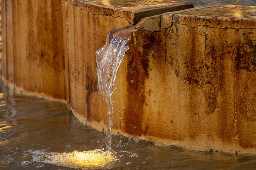
<svg viewBox="0 0 256 170"><path fill-rule="evenodd" d="M101 1L99 1L101 2ZM64 30L67 31L65 42L67 42L66 64L66 87L70 91L68 101L70 108L76 116L89 122L94 127L102 130L106 126L107 105L99 95L96 79L96 50L102 48L108 32L117 28L134 25L142 17L191 8L192 3L171 2L165 6L148 6L145 8L127 6L114 7L114 4L91 3L82 0L67 0L64 3ZM117 77L116 81L122 82L125 74ZM123 94L125 88L118 88L119 94ZM122 102L122 95L119 95ZM121 105L115 102L115 113L118 113ZM115 121L119 119L116 117Z"/></svg>

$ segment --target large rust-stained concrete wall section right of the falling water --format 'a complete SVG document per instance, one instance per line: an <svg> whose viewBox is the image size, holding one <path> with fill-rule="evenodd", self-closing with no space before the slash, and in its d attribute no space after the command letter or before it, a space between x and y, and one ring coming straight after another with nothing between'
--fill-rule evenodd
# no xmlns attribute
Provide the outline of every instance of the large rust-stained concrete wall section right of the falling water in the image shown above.
<svg viewBox="0 0 256 170"><path fill-rule="evenodd" d="M247 10L209 6L136 26L128 62L119 68L119 74L127 70L126 83L116 85L127 89L119 133L189 149L256 153L256 19L237 17L238 8ZM219 10L228 17L216 17Z"/></svg>

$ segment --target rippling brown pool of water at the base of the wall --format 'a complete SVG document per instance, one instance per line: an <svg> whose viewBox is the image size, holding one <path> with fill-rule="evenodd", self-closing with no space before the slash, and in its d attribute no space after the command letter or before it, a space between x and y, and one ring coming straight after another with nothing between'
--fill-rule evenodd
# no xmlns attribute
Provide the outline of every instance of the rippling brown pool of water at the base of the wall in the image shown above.
<svg viewBox="0 0 256 170"><path fill-rule="evenodd" d="M64 103L13 95L0 82L1 170L253 170L256 167L256 155L192 151L120 135L113 135L114 159L109 159L99 151L105 151L104 139L104 133L81 123ZM79 160L74 160L74 156ZM99 163L100 156L104 164Z"/></svg>

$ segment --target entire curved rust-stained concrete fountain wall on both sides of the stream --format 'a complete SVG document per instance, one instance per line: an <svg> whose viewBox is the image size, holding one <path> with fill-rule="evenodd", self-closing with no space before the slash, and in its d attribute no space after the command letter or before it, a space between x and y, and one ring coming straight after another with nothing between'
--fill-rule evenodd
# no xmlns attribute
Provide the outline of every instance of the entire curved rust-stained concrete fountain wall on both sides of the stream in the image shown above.
<svg viewBox="0 0 256 170"><path fill-rule="evenodd" d="M64 100L79 119L104 130L108 111L96 88L95 51L108 31L143 18L116 76L113 132L189 149L256 153L256 19L250 15L256 8L161 14L192 4L2 3L2 77L14 91Z"/></svg>

